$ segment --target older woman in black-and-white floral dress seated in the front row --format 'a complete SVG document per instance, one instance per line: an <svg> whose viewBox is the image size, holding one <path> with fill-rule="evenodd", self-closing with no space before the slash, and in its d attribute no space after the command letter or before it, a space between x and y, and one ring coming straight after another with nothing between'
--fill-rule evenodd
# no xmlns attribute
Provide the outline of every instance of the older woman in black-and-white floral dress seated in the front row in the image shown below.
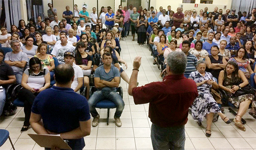
<svg viewBox="0 0 256 150"><path fill-rule="evenodd" d="M202 121L206 117L207 127L206 136L211 136L211 123L213 121L213 114L217 113L221 116L221 119L229 124L231 120L227 118L220 110L219 105L213 99L210 93L210 88L218 89L219 85L215 82L213 76L209 72L205 72L206 63L205 61L198 61L196 66L197 71L191 72L189 78L194 80L197 85L199 96L195 99L192 104L192 117L198 123L202 125Z"/></svg>

